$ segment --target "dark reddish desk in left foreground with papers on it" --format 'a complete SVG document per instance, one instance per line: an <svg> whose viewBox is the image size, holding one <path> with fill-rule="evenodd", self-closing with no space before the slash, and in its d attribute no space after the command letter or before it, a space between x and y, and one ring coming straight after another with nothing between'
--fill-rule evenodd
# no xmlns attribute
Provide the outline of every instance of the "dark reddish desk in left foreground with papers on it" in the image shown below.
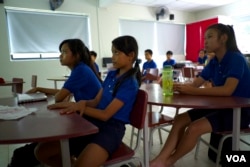
<svg viewBox="0 0 250 167"><path fill-rule="evenodd" d="M77 114L60 115L58 110L48 110L51 103L41 101L25 103L26 108L37 108L31 115L17 120L0 120L0 144L47 142L60 140L63 167L71 166L68 138L98 132L98 128ZM16 106L16 98L0 98L0 105Z"/></svg>

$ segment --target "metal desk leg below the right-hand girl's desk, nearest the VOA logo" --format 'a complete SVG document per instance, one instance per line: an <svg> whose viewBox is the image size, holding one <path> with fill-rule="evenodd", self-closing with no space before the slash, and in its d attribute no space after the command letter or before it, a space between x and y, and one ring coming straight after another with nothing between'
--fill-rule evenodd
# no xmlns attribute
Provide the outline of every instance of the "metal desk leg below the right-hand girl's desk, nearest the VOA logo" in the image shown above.
<svg viewBox="0 0 250 167"><path fill-rule="evenodd" d="M241 122L241 108L233 109L233 145L234 151L240 148L240 122Z"/></svg>

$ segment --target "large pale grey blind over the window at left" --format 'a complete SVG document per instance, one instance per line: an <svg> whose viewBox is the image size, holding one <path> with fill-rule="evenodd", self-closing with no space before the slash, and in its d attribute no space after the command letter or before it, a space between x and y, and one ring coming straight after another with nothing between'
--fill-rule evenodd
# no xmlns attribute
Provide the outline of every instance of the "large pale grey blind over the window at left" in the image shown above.
<svg viewBox="0 0 250 167"><path fill-rule="evenodd" d="M88 16L55 12L6 9L12 58L51 58L59 44L79 38L90 47Z"/></svg>

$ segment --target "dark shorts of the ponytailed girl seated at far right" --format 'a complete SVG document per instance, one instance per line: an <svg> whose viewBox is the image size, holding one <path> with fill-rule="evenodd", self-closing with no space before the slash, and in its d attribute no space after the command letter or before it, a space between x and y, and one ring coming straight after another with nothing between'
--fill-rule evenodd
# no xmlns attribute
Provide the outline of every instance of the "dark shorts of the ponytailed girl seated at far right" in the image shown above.
<svg viewBox="0 0 250 167"><path fill-rule="evenodd" d="M213 132L232 131L233 109L191 109L187 111L191 121L206 117L210 122ZM250 109L241 111L241 128L248 128L250 124Z"/></svg>

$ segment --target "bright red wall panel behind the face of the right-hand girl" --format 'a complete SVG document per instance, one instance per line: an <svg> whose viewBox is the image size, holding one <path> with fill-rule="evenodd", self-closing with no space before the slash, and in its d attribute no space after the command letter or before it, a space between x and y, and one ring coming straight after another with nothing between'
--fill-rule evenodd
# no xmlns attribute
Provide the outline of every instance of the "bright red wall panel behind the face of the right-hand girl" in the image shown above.
<svg viewBox="0 0 250 167"><path fill-rule="evenodd" d="M199 50L204 48L204 33L208 26L218 23L218 18L186 25L186 60L197 62Z"/></svg>

